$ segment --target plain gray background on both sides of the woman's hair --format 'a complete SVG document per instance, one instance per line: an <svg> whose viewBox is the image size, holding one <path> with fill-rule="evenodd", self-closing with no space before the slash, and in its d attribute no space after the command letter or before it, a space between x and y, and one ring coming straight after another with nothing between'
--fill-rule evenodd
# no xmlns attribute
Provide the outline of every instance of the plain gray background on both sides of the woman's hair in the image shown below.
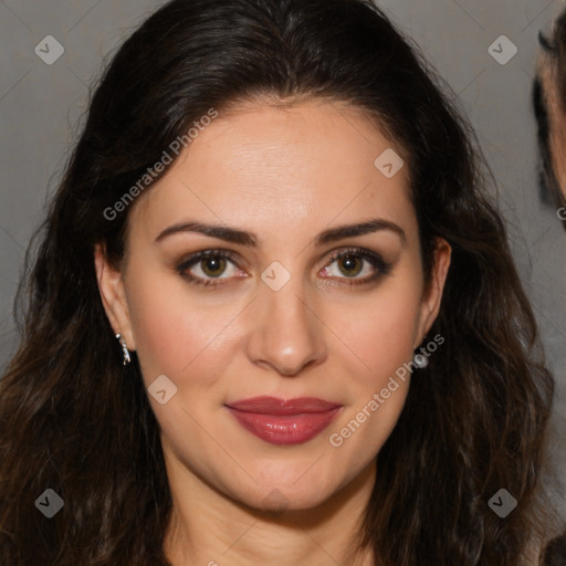
<svg viewBox="0 0 566 566"><path fill-rule="evenodd" d="M161 3L0 1L0 374L18 340L12 303L24 250L76 140L88 87L101 75L103 59ZM458 95L495 175L515 260L558 381L553 450L555 469L566 476L566 233L556 211L538 200L530 98L537 33L549 30L564 1L377 3ZM46 35L65 49L52 65L34 52ZM488 51L501 35L518 49L504 65Z"/></svg>

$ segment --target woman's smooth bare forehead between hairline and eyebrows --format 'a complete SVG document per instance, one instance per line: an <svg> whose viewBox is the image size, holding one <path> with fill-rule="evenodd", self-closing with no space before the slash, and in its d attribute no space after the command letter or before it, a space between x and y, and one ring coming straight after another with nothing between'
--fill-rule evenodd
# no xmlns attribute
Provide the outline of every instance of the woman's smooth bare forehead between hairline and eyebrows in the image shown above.
<svg viewBox="0 0 566 566"><path fill-rule="evenodd" d="M391 178L376 165L384 153L402 164ZM412 213L408 169L402 148L359 108L319 99L249 105L220 113L133 212L147 223L198 210L266 230L276 218L297 226L381 212L399 220Z"/></svg>

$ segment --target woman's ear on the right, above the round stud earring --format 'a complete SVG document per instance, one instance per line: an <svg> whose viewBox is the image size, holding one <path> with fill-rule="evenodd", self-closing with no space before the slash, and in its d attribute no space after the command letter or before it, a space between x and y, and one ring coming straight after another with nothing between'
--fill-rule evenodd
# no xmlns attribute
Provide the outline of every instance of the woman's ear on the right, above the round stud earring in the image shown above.
<svg viewBox="0 0 566 566"><path fill-rule="evenodd" d="M426 289L422 296L419 327L417 332L417 344L415 344L415 348L422 343L424 336L437 319L440 311L442 292L444 291L444 283L447 281L448 269L450 268L451 254L452 248L450 244L443 238L437 238L433 252L432 273L428 289Z"/></svg>

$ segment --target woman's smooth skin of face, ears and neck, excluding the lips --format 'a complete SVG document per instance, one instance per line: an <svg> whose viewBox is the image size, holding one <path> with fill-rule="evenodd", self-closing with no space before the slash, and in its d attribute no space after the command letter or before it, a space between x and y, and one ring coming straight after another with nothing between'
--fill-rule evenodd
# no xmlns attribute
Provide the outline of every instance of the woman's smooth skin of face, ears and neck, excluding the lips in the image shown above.
<svg viewBox="0 0 566 566"><path fill-rule="evenodd" d="M392 178L374 165L387 148L396 146L345 104L241 104L132 206L122 271L96 248L114 332L137 352L146 387L160 375L177 387L165 405L149 396L174 500L165 549L175 566L373 564L368 552L354 556L353 541L410 379L340 447L329 437L423 345L450 264L439 240L426 291L408 165ZM375 231L316 242L328 229L374 219ZM158 239L186 222L250 232L256 245L188 230ZM234 261L185 269L207 286L177 270L219 249ZM350 256L333 260L339 252ZM273 262L291 275L279 291L261 277ZM263 395L343 408L316 438L274 446L224 407Z"/></svg>

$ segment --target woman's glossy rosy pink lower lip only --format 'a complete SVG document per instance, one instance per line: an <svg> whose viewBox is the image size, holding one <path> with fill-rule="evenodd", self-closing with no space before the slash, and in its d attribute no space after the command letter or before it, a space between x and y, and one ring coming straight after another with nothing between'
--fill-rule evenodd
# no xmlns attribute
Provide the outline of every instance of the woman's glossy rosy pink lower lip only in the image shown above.
<svg viewBox="0 0 566 566"><path fill-rule="evenodd" d="M227 407L249 432L271 444L302 444L319 434L338 415L342 407L323 412L265 415Z"/></svg>

